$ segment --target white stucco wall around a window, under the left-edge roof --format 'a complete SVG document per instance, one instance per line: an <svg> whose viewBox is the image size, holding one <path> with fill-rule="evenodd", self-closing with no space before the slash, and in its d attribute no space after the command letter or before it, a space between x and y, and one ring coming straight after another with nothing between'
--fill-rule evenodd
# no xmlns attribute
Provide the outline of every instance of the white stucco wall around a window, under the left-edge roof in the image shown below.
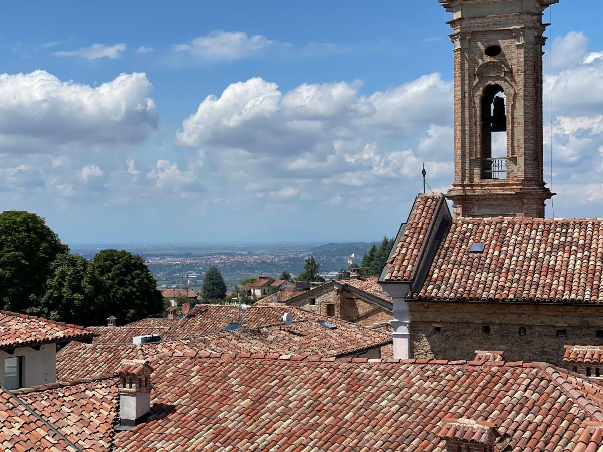
<svg viewBox="0 0 603 452"><path fill-rule="evenodd" d="M24 388L34 385L45 385L57 381L57 345L44 344L40 350L31 347L19 347L14 349L13 354L0 350L0 381L4 385L4 359L14 356L22 356L22 384Z"/></svg>

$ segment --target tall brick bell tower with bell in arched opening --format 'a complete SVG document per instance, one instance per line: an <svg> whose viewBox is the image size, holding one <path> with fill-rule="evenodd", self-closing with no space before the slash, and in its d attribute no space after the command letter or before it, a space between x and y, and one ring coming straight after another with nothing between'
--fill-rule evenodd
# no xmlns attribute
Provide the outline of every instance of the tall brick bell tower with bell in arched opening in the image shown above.
<svg viewBox="0 0 603 452"><path fill-rule="evenodd" d="M542 13L559 0L438 0L453 13L456 216L544 218Z"/></svg>

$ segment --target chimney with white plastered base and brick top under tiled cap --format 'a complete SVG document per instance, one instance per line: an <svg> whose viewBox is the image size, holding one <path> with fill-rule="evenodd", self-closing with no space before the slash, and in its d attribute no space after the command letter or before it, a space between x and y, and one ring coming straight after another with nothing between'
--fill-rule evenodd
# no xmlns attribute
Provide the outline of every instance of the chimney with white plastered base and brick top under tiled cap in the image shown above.
<svg viewBox="0 0 603 452"><path fill-rule="evenodd" d="M119 365L119 418L121 430L140 424L151 412L151 372L148 361L124 359Z"/></svg>

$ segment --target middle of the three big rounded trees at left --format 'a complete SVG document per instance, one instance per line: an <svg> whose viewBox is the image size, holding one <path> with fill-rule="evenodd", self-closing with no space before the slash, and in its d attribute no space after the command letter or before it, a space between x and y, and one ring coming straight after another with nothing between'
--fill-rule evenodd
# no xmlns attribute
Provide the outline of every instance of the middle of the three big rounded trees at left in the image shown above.
<svg viewBox="0 0 603 452"><path fill-rule="evenodd" d="M59 254L51 265L45 293L28 312L78 325L103 325L107 293L92 262L79 254Z"/></svg>

